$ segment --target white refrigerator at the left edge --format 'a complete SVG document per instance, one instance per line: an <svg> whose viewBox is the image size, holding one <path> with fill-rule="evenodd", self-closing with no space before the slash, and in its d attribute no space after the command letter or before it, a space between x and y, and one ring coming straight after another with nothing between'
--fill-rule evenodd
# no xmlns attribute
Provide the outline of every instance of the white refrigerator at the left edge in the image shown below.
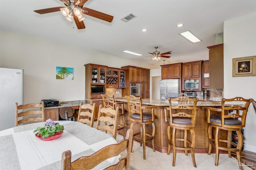
<svg viewBox="0 0 256 170"><path fill-rule="evenodd" d="M15 102L23 104L23 69L0 68L0 131L15 126Z"/></svg>

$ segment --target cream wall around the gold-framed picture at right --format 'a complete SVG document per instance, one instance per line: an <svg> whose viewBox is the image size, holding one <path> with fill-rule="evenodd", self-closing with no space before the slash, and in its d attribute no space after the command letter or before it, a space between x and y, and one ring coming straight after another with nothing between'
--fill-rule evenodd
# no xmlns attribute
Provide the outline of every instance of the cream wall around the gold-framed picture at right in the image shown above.
<svg viewBox="0 0 256 170"><path fill-rule="evenodd" d="M224 22L224 98L256 100L256 76L232 77L232 59L256 56L256 12ZM244 149L256 152L256 114L250 105L244 128Z"/></svg>

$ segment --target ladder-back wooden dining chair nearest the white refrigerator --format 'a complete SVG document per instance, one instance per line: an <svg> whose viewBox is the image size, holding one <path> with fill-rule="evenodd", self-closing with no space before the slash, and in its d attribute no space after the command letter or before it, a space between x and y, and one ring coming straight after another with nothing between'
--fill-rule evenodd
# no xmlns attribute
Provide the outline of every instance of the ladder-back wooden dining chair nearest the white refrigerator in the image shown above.
<svg viewBox="0 0 256 170"><path fill-rule="evenodd" d="M15 126L21 124L25 125L36 123L40 121L45 121L44 101L42 101L41 104L24 104L19 106L17 102L15 103Z"/></svg>

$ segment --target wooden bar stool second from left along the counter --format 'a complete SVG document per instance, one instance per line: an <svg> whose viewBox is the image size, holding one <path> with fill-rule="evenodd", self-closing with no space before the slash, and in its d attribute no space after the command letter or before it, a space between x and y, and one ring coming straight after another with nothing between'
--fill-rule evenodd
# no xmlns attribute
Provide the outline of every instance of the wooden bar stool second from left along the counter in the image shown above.
<svg viewBox="0 0 256 170"><path fill-rule="evenodd" d="M140 97L135 97L133 95L125 96L128 103L129 117L131 120L130 129L132 129L134 123L140 125L140 132L133 134L133 139L140 142L140 146L143 143L143 158L146 159L146 142L152 141L152 149L154 148L154 135L155 135L155 125L154 125L154 108L157 106L142 106L142 101ZM143 109L151 109L150 112L144 112ZM146 125L152 124L152 134L146 133ZM140 135L140 138L136 138ZM146 139L146 136L148 139Z"/></svg>

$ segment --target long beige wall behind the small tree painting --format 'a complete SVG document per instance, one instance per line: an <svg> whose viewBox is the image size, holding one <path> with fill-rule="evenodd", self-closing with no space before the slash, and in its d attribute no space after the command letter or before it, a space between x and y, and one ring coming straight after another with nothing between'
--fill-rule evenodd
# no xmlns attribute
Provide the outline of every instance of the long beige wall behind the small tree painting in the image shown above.
<svg viewBox="0 0 256 170"><path fill-rule="evenodd" d="M116 68L126 65L151 66L0 30L0 67L24 69L24 103L39 103L49 98L59 101L83 100L84 64L87 63ZM74 68L74 80L56 80L56 66Z"/></svg>

